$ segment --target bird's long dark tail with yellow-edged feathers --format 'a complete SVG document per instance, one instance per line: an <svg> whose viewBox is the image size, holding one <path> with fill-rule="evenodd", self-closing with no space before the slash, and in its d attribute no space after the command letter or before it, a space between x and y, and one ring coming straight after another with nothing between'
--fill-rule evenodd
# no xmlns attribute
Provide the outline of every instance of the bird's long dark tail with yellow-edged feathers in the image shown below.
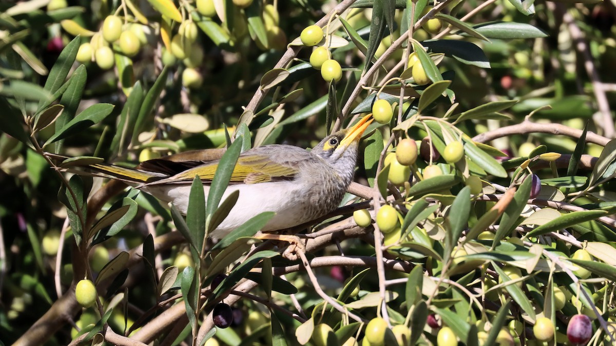
<svg viewBox="0 0 616 346"><path fill-rule="evenodd" d="M108 177L127 183L149 183L169 177L169 175L163 173L148 172L136 168L107 164L103 162L103 159L94 158L92 156L71 158L70 156L53 153L45 153L45 156L56 163L57 169L61 171L80 175L93 175L95 177ZM85 169L86 171L81 171L81 169Z"/></svg>

